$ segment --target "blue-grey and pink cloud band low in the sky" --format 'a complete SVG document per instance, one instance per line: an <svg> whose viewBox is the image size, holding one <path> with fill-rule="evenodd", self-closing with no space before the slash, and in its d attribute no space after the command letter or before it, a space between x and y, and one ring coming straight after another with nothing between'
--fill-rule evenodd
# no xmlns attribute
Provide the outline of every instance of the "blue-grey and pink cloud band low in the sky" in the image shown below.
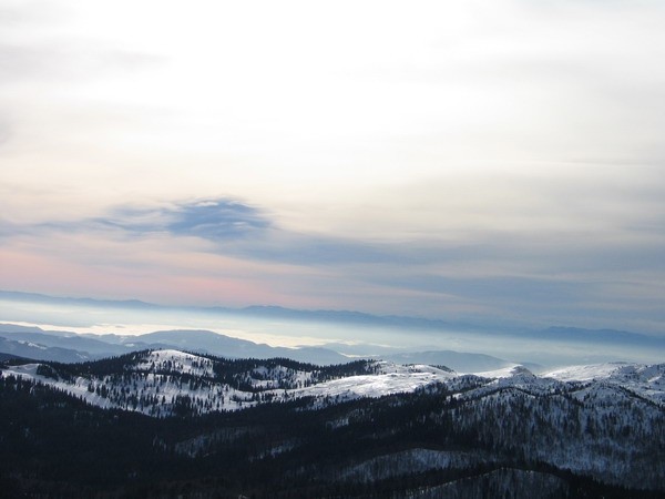
<svg viewBox="0 0 665 499"><path fill-rule="evenodd" d="M665 267L653 234L651 243L551 231L379 241L294 232L229 198L12 228L2 230L3 261L20 272L6 273L9 288L29 278L72 293L90 279L113 297L133 289L176 304L367 309L497 327L657 333L665 318Z"/></svg>

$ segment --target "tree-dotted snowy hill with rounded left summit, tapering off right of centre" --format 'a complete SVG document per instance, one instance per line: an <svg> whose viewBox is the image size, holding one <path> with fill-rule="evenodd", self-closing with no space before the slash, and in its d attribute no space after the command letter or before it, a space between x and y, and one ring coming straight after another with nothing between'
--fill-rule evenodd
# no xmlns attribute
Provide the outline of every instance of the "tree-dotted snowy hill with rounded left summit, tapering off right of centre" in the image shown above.
<svg viewBox="0 0 665 499"><path fill-rule="evenodd" d="M95 374L98 363L91 363L82 368L25 364L4 368L2 376L32 379L98 407L157 417L185 408L204 414L303 397L327 401L380 397L413 391L453 377L452 373L436 367L386 361L364 361L361 375L345 375L344 369L334 375L329 374L330 368L285 359L282 363L253 360L229 376L221 359L175 349L151 350L130 358L131 361L119 363L115 371L104 375ZM242 365L242 361L232 364Z"/></svg>

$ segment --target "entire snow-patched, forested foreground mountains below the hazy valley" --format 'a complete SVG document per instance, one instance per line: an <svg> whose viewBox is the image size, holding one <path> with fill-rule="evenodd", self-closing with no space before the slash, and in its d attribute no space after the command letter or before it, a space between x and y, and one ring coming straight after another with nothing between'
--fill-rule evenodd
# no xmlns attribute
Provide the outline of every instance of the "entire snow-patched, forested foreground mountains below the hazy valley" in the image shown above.
<svg viewBox="0 0 665 499"><path fill-rule="evenodd" d="M0 482L19 497L665 491L665 364L460 375L166 349L1 366Z"/></svg>

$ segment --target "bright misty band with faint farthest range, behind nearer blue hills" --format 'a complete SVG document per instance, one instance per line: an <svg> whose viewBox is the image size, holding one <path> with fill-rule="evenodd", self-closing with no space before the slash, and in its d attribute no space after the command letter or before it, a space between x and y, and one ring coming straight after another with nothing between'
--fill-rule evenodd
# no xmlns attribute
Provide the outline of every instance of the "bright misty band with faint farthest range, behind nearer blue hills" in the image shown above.
<svg viewBox="0 0 665 499"><path fill-rule="evenodd" d="M91 301L63 303L31 302L29 298L0 299L0 323L38 326L43 329L76 334L115 334L137 336L157 330L204 329L273 347L325 346L328 344L362 345L362 352L374 354L398 352L452 350L491 355L516 364L544 366L595 364L600 361L663 360L663 342L634 335L631 344L621 337L594 337L594 332L580 332L577 339L556 336L540 337L539 330L493 329L481 325L456 328L446 326L389 325L380 320L366 324L345 318L329 318L316 313L310 316L262 316L233 309L196 309L187 307L127 307L122 303L104 304ZM380 317L375 317L380 319ZM621 333L621 332L616 332ZM2 336L0 334L0 336ZM653 336L653 338L661 338ZM654 350L654 345L657 349Z"/></svg>

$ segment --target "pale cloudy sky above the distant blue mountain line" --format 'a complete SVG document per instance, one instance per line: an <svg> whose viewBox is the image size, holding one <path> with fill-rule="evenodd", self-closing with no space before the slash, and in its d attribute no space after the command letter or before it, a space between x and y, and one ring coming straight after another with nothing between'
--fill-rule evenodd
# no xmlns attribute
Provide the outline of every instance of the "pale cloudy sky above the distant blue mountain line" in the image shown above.
<svg viewBox="0 0 665 499"><path fill-rule="evenodd" d="M665 335L665 4L0 1L0 289Z"/></svg>

